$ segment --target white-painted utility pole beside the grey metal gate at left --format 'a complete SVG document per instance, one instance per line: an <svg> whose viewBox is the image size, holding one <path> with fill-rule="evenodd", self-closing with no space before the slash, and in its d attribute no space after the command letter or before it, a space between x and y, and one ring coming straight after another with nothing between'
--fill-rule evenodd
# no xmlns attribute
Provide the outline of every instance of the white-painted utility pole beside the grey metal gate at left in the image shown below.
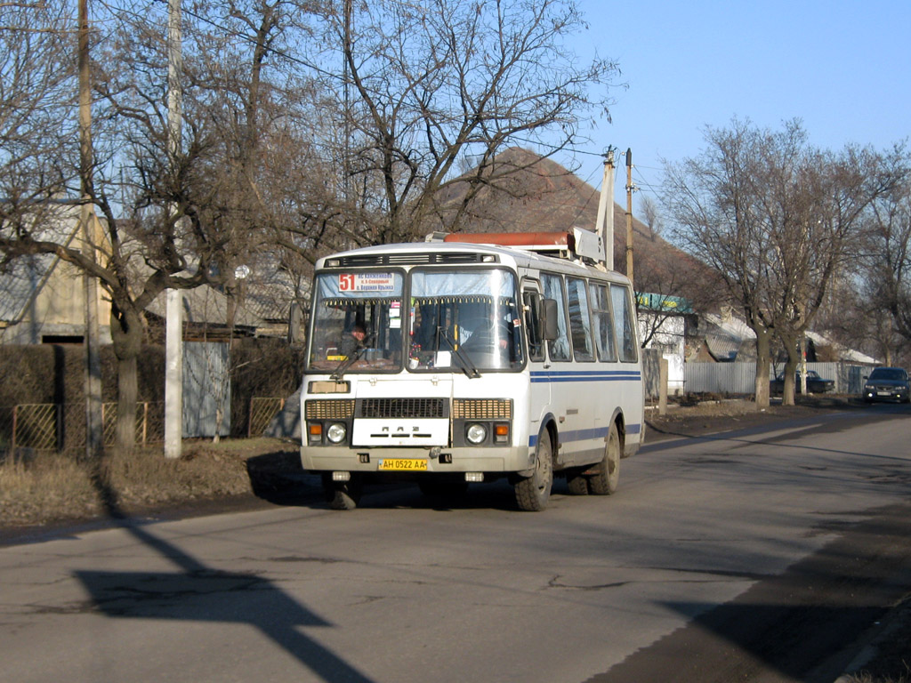
<svg viewBox="0 0 911 683"><path fill-rule="evenodd" d="M180 72L183 55L180 35L180 0L168 3L168 151L171 168L180 151L181 100ZM168 206L165 220L177 208ZM177 226L175 226L175 229ZM179 240L177 234L175 242ZM165 457L179 458L183 439L183 295L169 289L165 310Z"/></svg>

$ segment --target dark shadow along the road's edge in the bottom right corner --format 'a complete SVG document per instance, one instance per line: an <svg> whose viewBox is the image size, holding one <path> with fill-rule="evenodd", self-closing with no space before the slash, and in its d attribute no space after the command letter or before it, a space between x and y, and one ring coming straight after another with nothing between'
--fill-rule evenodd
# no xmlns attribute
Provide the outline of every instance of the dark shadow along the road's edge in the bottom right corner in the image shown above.
<svg viewBox="0 0 911 683"><path fill-rule="evenodd" d="M871 514L729 603L661 603L687 625L589 683L831 683L865 645L865 633L911 590L911 504Z"/></svg>

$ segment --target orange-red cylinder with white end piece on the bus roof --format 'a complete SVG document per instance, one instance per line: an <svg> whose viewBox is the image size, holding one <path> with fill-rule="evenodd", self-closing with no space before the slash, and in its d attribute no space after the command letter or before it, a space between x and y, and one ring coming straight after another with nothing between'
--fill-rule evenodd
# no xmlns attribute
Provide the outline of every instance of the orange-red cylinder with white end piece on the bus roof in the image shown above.
<svg viewBox="0 0 911 683"><path fill-rule="evenodd" d="M575 227L558 232L434 232L427 235L426 241L490 244L562 259L604 260L601 237L590 230Z"/></svg>

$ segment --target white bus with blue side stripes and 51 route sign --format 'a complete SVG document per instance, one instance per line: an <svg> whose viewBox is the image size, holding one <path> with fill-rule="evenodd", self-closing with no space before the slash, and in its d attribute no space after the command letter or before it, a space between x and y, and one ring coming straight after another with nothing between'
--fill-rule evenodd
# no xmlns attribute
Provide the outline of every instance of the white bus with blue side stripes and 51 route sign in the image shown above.
<svg viewBox="0 0 911 683"><path fill-rule="evenodd" d="M644 394L630 281L591 265L598 252L574 229L318 260L301 462L329 504L351 509L384 477L451 495L505 476L523 510L548 504L555 475L613 493Z"/></svg>

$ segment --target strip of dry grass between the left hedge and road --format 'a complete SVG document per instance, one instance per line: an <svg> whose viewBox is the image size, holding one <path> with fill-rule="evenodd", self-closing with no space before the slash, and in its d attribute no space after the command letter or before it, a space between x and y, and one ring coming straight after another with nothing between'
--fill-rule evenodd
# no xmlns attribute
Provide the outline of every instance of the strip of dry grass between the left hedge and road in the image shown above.
<svg viewBox="0 0 911 683"><path fill-rule="evenodd" d="M161 449L105 454L100 462L41 453L0 463L0 525L41 525L154 505L251 493L247 460L287 449L271 439L186 443L177 460Z"/></svg>

